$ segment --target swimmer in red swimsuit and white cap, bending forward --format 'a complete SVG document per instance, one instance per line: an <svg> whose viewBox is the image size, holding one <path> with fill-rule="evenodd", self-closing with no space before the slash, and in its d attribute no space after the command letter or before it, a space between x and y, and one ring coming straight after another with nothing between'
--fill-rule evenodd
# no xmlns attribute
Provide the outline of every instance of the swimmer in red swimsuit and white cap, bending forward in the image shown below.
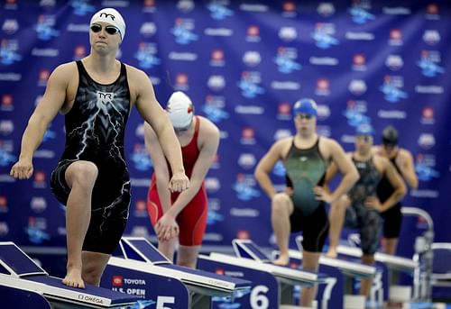
<svg viewBox="0 0 451 309"><path fill-rule="evenodd" d="M207 225L204 179L216 158L219 130L207 118L195 116L191 100L180 91L170 95L166 111L179 139L189 189L181 194L170 192L170 168L155 132L145 123L145 143L154 168L147 211L158 236L161 253L172 260L179 236L177 263L195 268Z"/></svg>

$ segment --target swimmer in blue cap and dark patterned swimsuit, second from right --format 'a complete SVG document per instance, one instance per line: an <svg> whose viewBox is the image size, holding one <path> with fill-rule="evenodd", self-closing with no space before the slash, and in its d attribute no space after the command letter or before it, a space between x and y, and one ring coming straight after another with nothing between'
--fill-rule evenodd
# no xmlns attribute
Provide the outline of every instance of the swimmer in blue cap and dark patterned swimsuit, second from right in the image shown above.
<svg viewBox="0 0 451 309"><path fill-rule="evenodd" d="M400 198L406 194L406 186L400 175L391 165L388 159L373 154L373 129L369 125L357 128L355 134L355 151L348 153L353 160L354 166L359 171L359 181L335 203L331 204L330 222L330 245L327 256L336 257L336 246L338 245L340 233L345 223L346 227L360 230L360 241L363 251L362 261L365 264L374 263L374 253L379 244L381 234L381 212L398 203ZM336 166L331 165L327 170L326 183L336 174ZM387 177L394 188L392 195L381 203L377 198L376 190L382 176ZM373 284L373 278L362 279L361 295L368 296Z"/></svg>

